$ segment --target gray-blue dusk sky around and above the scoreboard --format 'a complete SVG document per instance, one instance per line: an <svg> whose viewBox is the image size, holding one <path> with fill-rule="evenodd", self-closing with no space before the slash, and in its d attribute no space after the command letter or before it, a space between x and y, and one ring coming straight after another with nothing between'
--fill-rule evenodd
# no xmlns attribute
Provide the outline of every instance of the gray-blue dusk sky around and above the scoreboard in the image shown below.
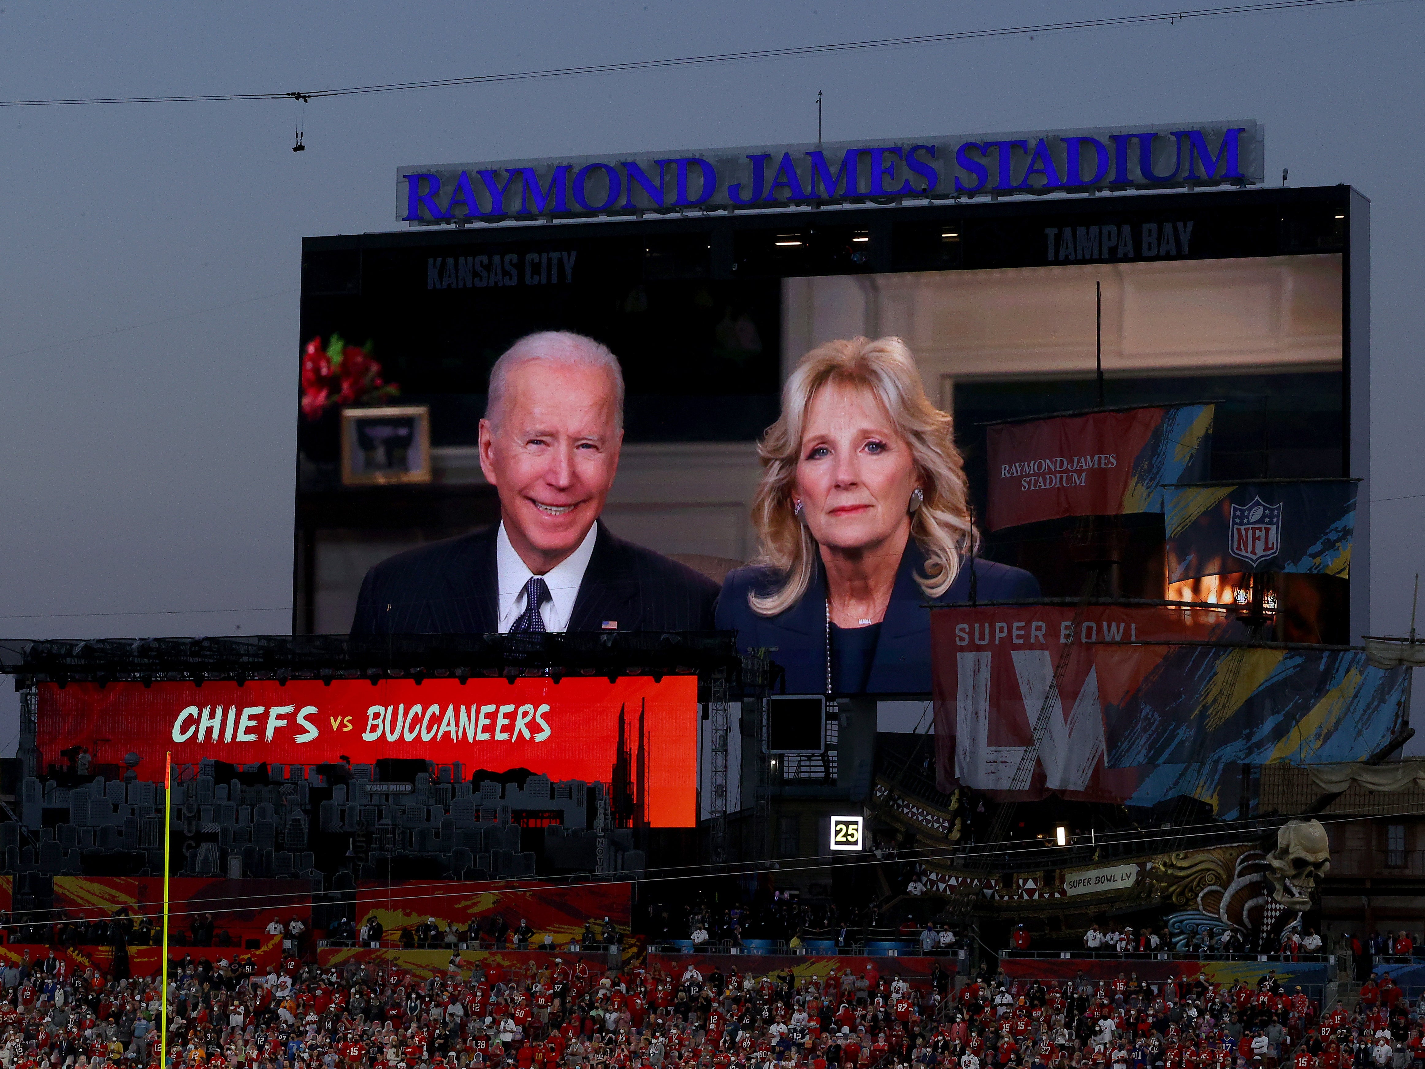
<svg viewBox="0 0 1425 1069"><path fill-rule="evenodd" d="M0 0L4 3L4 0ZM0 98L288 91L1166 10L1154 3L0 7ZM1425 552L1425 4L292 103L0 108L0 634L291 627L299 249L399 164L1251 117L1372 201L1372 629ZM1425 708L1425 707L1422 707ZM17 703L0 693L0 751ZM1425 735L1425 733L1422 733Z"/></svg>

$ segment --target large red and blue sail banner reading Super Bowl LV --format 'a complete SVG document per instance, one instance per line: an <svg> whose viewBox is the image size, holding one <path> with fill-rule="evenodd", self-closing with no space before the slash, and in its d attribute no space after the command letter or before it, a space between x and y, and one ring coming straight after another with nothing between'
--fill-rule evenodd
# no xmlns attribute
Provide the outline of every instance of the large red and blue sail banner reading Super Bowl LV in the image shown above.
<svg viewBox="0 0 1425 1069"><path fill-rule="evenodd" d="M1206 607L936 609L940 790L1223 807L1243 764L1358 761L1389 737L1404 670L1359 650L1228 644L1241 640Z"/></svg>

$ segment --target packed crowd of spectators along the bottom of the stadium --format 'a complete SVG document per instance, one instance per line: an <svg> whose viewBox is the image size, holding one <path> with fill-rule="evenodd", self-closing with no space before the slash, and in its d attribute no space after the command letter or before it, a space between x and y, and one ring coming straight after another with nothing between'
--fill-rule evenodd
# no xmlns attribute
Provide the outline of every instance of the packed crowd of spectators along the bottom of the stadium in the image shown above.
<svg viewBox="0 0 1425 1069"><path fill-rule="evenodd" d="M496 958L420 976L390 961L177 958L170 1065L180 1069L1425 1069L1421 1005L1389 979L1325 1015L1268 974L1150 985L881 972L758 975L754 959L598 974L584 959ZM728 968L721 966L727 962ZM741 965L742 971L734 965ZM160 985L63 956L0 971L4 1069L158 1063Z"/></svg>

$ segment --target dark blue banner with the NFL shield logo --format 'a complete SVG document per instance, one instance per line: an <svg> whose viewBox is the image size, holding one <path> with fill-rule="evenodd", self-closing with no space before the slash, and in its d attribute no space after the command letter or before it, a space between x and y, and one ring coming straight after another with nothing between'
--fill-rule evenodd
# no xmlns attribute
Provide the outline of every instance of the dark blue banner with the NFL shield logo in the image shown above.
<svg viewBox="0 0 1425 1069"><path fill-rule="evenodd" d="M1163 490L1168 582L1234 572L1351 574L1354 479Z"/></svg>

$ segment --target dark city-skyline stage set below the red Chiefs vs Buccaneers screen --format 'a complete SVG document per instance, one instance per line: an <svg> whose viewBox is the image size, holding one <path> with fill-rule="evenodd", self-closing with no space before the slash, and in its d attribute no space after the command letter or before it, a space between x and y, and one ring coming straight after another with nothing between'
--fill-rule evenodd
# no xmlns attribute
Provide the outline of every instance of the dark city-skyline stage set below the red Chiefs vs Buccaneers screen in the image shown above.
<svg viewBox="0 0 1425 1069"><path fill-rule="evenodd" d="M249 765L204 761L172 791L174 874L306 881L523 878L591 871L591 811L604 787L463 781L459 764ZM115 770L117 771L117 770ZM390 773L405 774L392 783ZM148 875L162 869L162 788L51 773L20 784L19 820L0 824L4 871L40 875ZM392 790L403 788L403 790ZM523 845L524 825L537 828ZM627 828L606 834L613 871L644 868Z"/></svg>

